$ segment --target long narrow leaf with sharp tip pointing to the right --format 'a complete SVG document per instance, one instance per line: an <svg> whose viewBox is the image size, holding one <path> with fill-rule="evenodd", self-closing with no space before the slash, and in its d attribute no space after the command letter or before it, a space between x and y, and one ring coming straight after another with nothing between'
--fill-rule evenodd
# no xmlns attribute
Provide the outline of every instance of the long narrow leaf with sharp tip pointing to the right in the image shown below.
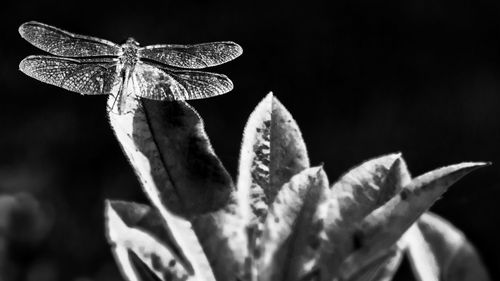
<svg viewBox="0 0 500 281"><path fill-rule="evenodd" d="M341 276L356 272L359 265L380 256L396 243L402 234L461 177L486 163L462 163L447 166L419 176L380 208L367 216L359 226L360 249L342 265Z"/></svg>

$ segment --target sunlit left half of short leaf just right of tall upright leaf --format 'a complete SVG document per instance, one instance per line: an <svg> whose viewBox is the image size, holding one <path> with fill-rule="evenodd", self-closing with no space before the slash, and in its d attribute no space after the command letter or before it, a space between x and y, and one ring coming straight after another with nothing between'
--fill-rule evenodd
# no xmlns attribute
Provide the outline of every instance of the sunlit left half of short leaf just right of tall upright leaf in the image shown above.
<svg viewBox="0 0 500 281"><path fill-rule="evenodd" d="M308 168L293 176L276 196L264 221L262 235L258 237L259 280L283 280L291 252L291 239L297 219L313 189L324 184L322 168ZM314 196L314 195L311 195Z"/></svg>

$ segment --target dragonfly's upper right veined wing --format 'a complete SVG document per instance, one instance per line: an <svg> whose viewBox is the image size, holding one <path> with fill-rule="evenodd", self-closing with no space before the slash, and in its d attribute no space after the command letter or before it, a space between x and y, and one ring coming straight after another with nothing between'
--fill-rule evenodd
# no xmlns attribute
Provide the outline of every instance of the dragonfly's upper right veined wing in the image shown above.
<svg viewBox="0 0 500 281"><path fill-rule="evenodd" d="M139 49L141 58L181 68L205 68L237 58L243 49L234 42L196 45L152 45Z"/></svg>

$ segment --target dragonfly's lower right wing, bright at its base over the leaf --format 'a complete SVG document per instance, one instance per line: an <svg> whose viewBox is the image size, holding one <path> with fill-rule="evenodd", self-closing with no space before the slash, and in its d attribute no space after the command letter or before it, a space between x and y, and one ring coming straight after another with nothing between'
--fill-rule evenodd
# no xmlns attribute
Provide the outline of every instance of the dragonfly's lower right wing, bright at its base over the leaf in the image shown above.
<svg viewBox="0 0 500 281"><path fill-rule="evenodd" d="M192 100L213 97L233 89L227 76L217 73L174 70L138 62L133 81L136 95L154 100Z"/></svg>

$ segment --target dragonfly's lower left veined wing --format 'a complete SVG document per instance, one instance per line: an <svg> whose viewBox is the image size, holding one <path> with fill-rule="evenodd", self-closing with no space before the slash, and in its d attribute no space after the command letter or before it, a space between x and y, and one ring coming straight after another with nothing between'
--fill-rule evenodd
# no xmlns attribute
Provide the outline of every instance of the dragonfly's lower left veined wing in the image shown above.
<svg viewBox="0 0 500 281"><path fill-rule="evenodd" d="M53 56L29 56L19 64L19 69L32 78L84 95L109 94L120 82L117 67L112 58Z"/></svg>

